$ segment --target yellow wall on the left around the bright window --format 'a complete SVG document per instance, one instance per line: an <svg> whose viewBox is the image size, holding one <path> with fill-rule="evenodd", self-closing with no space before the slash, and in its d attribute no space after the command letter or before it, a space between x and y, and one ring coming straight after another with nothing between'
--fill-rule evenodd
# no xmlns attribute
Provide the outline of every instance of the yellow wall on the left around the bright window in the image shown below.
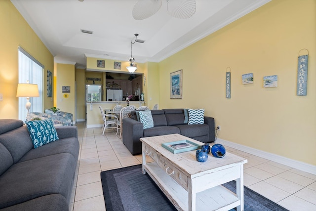
<svg viewBox="0 0 316 211"><path fill-rule="evenodd" d="M47 97L47 70L53 72L53 56L9 0L0 0L0 118L18 118L18 46L44 65L43 109L53 106Z"/></svg>

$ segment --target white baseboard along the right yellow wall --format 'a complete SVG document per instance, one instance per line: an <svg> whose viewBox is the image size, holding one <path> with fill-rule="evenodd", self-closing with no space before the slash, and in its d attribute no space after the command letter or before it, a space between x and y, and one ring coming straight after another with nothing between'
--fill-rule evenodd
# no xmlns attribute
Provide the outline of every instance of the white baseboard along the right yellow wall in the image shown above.
<svg viewBox="0 0 316 211"><path fill-rule="evenodd" d="M251 147L243 146L241 144L237 144L237 143L234 143L231 141L226 141L226 140L223 140L220 138L217 138L217 140L215 142L219 143L219 144L223 144L224 146L228 146L228 147L235 148L237 150L244 151L246 153L249 153L249 154L261 157L261 158L265 158L265 159L274 161L274 162L279 163L279 164L289 166L289 167L294 168L294 169L299 169L299 170L302 170L302 171L305 171L308 173L316 174L316 166L313 166L311 164L296 161L293 159L289 159L289 158L286 158L283 156L279 156L279 155L265 152L262 150L254 149Z"/></svg>

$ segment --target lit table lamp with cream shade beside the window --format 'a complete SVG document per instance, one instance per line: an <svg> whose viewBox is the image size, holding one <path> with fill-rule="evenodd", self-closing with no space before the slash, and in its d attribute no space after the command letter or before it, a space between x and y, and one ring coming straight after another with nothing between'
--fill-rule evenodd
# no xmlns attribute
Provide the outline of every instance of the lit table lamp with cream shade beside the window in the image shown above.
<svg viewBox="0 0 316 211"><path fill-rule="evenodd" d="M39 97L39 87L38 84L18 84L18 89L16 91L16 97L26 97L25 108L28 110L26 119L29 120L30 117L30 97Z"/></svg>

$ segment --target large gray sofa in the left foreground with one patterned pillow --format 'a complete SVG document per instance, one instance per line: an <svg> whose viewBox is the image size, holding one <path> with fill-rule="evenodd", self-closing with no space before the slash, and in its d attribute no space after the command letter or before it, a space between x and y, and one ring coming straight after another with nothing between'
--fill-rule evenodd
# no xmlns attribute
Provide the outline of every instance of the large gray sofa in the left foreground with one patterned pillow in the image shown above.
<svg viewBox="0 0 316 211"><path fill-rule="evenodd" d="M0 210L69 211L79 155L76 126L34 149L20 120L0 120Z"/></svg>

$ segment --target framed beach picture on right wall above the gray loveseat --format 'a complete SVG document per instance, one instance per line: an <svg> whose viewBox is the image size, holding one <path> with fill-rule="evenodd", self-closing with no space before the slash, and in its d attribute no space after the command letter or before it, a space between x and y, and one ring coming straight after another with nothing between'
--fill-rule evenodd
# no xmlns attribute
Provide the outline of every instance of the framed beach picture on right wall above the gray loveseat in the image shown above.
<svg viewBox="0 0 316 211"><path fill-rule="evenodd" d="M170 99L182 99L182 70L170 73Z"/></svg>

